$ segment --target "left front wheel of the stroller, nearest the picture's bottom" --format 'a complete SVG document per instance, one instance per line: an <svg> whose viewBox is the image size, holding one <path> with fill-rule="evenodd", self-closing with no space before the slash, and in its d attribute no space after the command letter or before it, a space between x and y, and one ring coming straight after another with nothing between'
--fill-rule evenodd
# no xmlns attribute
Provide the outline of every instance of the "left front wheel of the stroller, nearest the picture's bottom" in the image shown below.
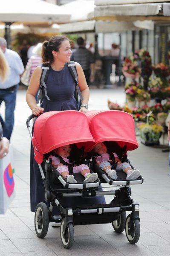
<svg viewBox="0 0 170 256"><path fill-rule="evenodd" d="M61 227L60 227L61 242L62 242L64 248L70 249L74 242L73 224L71 222L69 222L69 224L66 226L65 234L63 234L63 227L64 227L64 219L61 221Z"/></svg>

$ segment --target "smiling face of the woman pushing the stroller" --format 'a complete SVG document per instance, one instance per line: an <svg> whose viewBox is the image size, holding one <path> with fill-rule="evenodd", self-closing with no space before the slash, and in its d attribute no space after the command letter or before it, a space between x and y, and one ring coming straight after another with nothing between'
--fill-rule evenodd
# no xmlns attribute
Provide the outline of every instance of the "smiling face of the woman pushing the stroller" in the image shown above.
<svg viewBox="0 0 170 256"><path fill-rule="evenodd" d="M55 52L55 51L54 51ZM54 53L53 53L54 54ZM61 47L58 52L55 52L56 58L62 62L69 62L72 55L71 46L68 40L64 40L61 43Z"/></svg>

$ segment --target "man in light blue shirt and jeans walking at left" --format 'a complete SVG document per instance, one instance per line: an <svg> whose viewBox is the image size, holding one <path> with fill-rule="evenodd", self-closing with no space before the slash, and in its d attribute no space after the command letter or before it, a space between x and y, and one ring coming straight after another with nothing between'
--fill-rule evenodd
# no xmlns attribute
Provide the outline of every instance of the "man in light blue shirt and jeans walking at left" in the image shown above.
<svg viewBox="0 0 170 256"><path fill-rule="evenodd" d="M3 82L0 80L0 105L3 101L5 102L5 121L2 116L0 116L0 122L3 127L3 136L10 140L14 127L16 94L24 67L20 55L6 47L6 40L0 37L0 48L10 67L9 76L6 81Z"/></svg>

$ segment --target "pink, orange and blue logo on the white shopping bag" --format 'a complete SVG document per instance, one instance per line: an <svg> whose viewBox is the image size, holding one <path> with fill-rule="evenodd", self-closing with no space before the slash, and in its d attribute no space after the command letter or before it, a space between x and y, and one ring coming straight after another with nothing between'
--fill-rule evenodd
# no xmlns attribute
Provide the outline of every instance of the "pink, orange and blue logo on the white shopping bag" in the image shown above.
<svg viewBox="0 0 170 256"><path fill-rule="evenodd" d="M14 177L11 164L9 164L3 174L3 180L6 188L7 195L10 197L14 191Z"/></svg>

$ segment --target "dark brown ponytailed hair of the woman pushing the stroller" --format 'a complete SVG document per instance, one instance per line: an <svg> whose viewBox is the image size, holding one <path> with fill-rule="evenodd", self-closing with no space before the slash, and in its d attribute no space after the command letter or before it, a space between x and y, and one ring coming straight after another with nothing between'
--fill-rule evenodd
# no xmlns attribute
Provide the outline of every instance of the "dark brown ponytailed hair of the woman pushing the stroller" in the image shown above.
<svg viewBox="0 0 170 256"><path fill-rule="evenodd" d="M49 39L49 41L43 42L41 53L43 63L52 63L52 61L54 60L52 51L58 52L62 42L65 40L69 41L69 39L64 35L54 35Z"/></svg>

